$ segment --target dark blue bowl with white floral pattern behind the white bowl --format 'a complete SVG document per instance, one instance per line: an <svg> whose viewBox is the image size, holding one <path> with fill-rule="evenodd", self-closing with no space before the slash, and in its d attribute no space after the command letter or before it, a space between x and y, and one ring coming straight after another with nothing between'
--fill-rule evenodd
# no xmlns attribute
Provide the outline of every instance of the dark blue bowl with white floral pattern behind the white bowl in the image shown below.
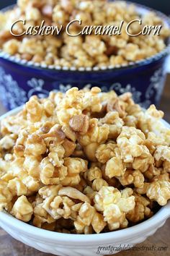
<svg viewBox="0 0 170 256"><path fill-rule="evenodd" d="M141 14L152 10L137 7ZM157 14L170 27L169 18L160 12ZM7 109L13 109L25 103L31 95L42 98L50 90L64 92L73 86L99 86L104 91L115 90L118 94L131 92L135 102L146 108L151 103L158 104L161 98L169 48L167 43L164 51L128 65L79 69L42 66L0 51L0 98Z"/></svg>

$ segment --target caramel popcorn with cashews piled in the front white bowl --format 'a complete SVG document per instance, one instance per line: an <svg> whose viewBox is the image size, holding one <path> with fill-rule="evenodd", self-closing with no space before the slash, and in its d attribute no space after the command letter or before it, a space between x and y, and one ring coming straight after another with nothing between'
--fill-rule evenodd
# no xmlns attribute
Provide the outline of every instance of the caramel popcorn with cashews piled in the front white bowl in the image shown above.
<svg viewBox="0 0 170 256"><path fill-rule="evenodd" d="M155 106L144 111L130 93L99 88L33 96L1 121L0 210L71 234L150 218L170 199L163 115Z"/></svg>

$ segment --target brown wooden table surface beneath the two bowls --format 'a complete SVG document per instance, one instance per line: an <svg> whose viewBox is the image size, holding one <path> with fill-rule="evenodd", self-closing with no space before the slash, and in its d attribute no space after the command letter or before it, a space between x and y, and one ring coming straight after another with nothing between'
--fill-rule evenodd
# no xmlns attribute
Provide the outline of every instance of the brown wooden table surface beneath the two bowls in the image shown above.
<svg viewBox="0 0 170 256"><path fill-rule="evenodd" d="M161 98L161 104L159 106L161 110L164 111L164 118L166 121L170 122L170 75L166 80L166 87L164 88L164 93ZM0 105L0 114L5 112L4 108ZM146 239L145 242L138 244L140 251L123 251L119 252L117 256L169 256L170 255L170 219L166 221L166 224L158 229L156 234ZM50 254L39 252L36 249L32 249L21 242L13 239L9 234L7 234L3 229L0 229L0 255L1 256L50 256ZM152 246L156 247L156 250L151 251L149 248ZM142 248L146 247L144 250ZM158 250L159 247L167 247L166 251Z"/></svg>

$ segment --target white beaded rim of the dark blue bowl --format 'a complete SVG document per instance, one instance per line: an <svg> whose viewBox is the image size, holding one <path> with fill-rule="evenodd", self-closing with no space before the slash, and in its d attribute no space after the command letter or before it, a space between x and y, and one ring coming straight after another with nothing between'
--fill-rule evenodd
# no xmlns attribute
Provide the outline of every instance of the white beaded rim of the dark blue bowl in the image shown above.
<svg viewBox="0 0 170 256"><path fill-rule="evenodd" d="M111 1L118 1L118 0L111 0ZM146 7L143 4L137 4L134 2L130 2L130 1L125 1L125 2L127 4L135 4L135 7L137 9L143 9L146 12L155 12L156 14L158 14L158 17L161 17L162 20L164 20L164 22L166 22L166 25L168 25L168 27L170 28L170 17L168 17L163 12L160 12L151 7ZM3 9L1 9L0 12L9 11L14 7L16 7L16 4L12 4L9 7L5 7ZM19 57L7 54L4 51L2 51L1 49L0 49L0 58L5 59L7 61L11 61L12 63L15 63L15 64L19 64L22 67L30 67L32 69L37 69L40 71L86 72L86 73L101 72L102 73L102 72L109 72L109 71L133 69L135 67L142 67L142 66L151 64L154 61L157 61L158 59L163 58L164 56L169 55L169 53L170 53L170 36L167 40L168 40L168 42L167 42L166 47L162 51L158 52L157 54L147 57L145 59L141 59L139 61L130 61L128 64L117 64L117 65L115 65L115 67L113 67L112 65L109 65L109 66L103 66L103 67L94 66L94 67L79 67L79 68L77 68L77 67L62 67L59 65L55 66L55 65L40 64L40 63L36 63L34 61L27 61L26 59L19 59Z"/></svg>

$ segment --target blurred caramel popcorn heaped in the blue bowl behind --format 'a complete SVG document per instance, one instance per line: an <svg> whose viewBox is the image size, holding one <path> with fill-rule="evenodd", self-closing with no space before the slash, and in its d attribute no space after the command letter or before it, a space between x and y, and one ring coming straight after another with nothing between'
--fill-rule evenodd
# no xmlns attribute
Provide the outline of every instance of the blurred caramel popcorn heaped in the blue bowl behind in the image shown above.
<svg viewBox="0 0 170 256"><path fill-rule="evenodd" d="M14 24L17 20L25 20L25 24L21 21ZM73 20L76 22L72 22ZM133 20L142 20L142 24L132 22ZM131 61L140 61L164 50L166 38L169 37L169 28L158 14L148 12L141 15L138 7L125 1L18 0L14 9L0 13L0 24L2 51L19 59L54 67L128 65ZM158 35L139 33L145 30L145 26L156 25L162 26ZM34 35L30 33L32 27L43 26L57 26L59 32L55 34L52 30L50 35L41 35L39 31ZM84 31L86 26L89 26L90 33L87 29ZM95 26L95 30L97 26L122 28L118 35L110 35L102 32L95 34L96 31L91 26ZM17 36L10 33L11 27L12 33Z"/></svg>

